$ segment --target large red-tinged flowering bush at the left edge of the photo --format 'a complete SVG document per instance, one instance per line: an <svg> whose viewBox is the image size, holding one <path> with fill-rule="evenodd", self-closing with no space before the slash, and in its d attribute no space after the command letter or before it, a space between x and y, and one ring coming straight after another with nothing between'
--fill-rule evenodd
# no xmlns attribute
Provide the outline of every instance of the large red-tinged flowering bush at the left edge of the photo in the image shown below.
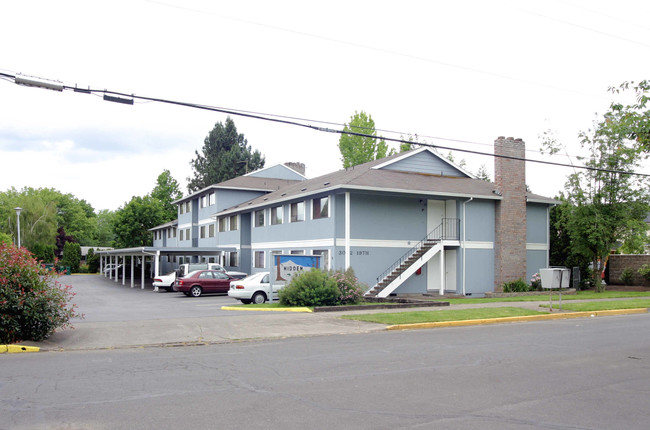
<svg viewBox="0 0 650 430"><path fill-rule="evenodd" d="M0 243L0 343L39 341L83 318L75 293L56 280L26 248Z"/></svg>

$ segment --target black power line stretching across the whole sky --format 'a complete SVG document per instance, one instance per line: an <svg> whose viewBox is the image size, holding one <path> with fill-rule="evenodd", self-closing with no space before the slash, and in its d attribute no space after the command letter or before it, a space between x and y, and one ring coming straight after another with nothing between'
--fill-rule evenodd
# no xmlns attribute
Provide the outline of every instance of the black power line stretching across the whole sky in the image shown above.
<svg viewBox="0 0 650 430"><path fill-rule="evenodd" d="M6 73L0 72L0 78L4 80L5 78L13 78L14 82L16 82L16 76L15 75L10 75ZM34 81L30 83L30 86L38 86L38 81L42 81L45 83L43 88L46 89L52 89L51 88L51 82L58 82L58 81L51 81L48 79L42 79L42 78L34 78ZM17 82L20 83L20 82ZM474 154L474 155L482 155L482 156L488 156L488 157L499 157L499 158L506 158L506 159L511 159L511 160L518 160L518 161L524 161L524 162L530 162L530 163L538 163L538 164L544 164L544 165L550 165L550 166L560 166L560 167L569 167L572 169L583 169L583 170L590 170L590 171L598 171L598 172L605 172L605 173L612 173L612 174L624 174L624 175L633 175L633 176L643 176L643 177L650 177L650 174L647 173L636 173L636 172L627 172L624 170L612 170L612 169L601 169L601 168L596 168L596 167L590 167L590 166L576 166L573 164L566 164L566 163L558 163L558 162L553 162L553 161L545 161L545 160L533 160L525 157L515 157L515 156L509 156L509 155L501 155L501 154L493 154L493 153L488 153L488 152L482 152L482 151L474 151L470 149L463 149L463 148L453 148L450 146L442 146L442 145L435 145L432 143L425 143L425 142L413 142L405 139L398 139L398 138L392 138L392 137L378 137L376 135L371 135L371 134L366 134L366 133L357 133L353 131L346 131L346 130L336 130L332 128L327 128L327 127L319 127L315 126L312 124L304 124L298 121L304 121L302 119L292 119L289 120L288 118L292 117L281 117L280 115L266 115L266 114L259 114L259 113L251 113L250 111L243 111L243 110L238 110L238 109L229 109L229 108L221 108L221 107L216 107L216 106L209 106L209 105L203 105L203 104L197 104L197 103L190 103L190 102L182 102L182 101L177 101L177 100L169 100L169 99L163 99L163 98L158 98L158 97L147 97L147 96L138 96L135 94L127 94L119 91L111 91L107 89L81 89L77 86L69 86L69 85L60 85L63 90L67 91L73 91L77 93L83 93L83 94L93 94L93 95L99 95L103 94L104 100L108 101L116 101L119 103L126 103L126 104L133 104L134 100L144 100L148 102L157 102L157 103L164 103L164 104L170 104L170 105L175 105L175 106L183 106L183 107L189 107L189 108L194 108L194 109L201 109L201 110L207 110L211 112L219 112L219 113L225 113L228 115L235 115L235 116L241 116L245 118L251 118L251 119L258 119L258 120L263 120L263 121L269 121L269 122L275 122L279 124L286 124L286 125L293 125L297 127L303 127L303 128L308 128L311 130L315 131L320 131L320 132L325 132L325 133L334 133L334 134L348 134L352 136L360 136L360 137L369 137L372 139L384 139L390 142L397 142L397 143L407 143L407 144L415 144L419 146L426 146L434 149L443 149L443 150L449 150L449 151L458 151L458 152L464 152L468 154ZM108 96L108 97L107 97ZM119 98L119 100L118 100ZM285 119L286 118L286 119ZM319 122L323 124L330 124L332 125L333 123L327 123L325 121L313 121L313 122ZM338 125L338 124L337 124ZM456 142L464 142L458 139L446 139L446 138L439 138L441 140L448 140L448 141L456 141ZM469 142L467 142L469 143Z"/></svg>

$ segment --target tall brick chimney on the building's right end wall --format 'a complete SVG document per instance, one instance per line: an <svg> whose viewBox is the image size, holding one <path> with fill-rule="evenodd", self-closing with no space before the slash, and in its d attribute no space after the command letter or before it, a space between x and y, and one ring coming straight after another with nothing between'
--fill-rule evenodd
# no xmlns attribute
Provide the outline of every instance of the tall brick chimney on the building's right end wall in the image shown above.
<svg viewBox="0 0 650 430"><path fill-rule="evenodd" d="M496 202L494 290L506 281L526 281L526 145L521 139L499 137L494 141ZM499 157L517 157L518 160Z"/></svg>

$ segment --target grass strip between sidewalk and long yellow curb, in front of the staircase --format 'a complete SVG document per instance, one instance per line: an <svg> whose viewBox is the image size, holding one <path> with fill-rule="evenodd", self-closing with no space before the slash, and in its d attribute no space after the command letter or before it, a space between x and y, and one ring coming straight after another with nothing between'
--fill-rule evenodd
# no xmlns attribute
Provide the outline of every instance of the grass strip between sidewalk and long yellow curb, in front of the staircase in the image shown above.
<svg viewBox="0 0 650 430"><path fill-rule="evenodd" d="M363 315L344 315L341 318L357 321L367 321L379 324L416 324L425 322L476 320L483 318L518 317L525 315L543 315L548 312L532 311L528 309L503 307L503 308L478 308L458 309L445 311L413 311L390 312Z"/></svg>

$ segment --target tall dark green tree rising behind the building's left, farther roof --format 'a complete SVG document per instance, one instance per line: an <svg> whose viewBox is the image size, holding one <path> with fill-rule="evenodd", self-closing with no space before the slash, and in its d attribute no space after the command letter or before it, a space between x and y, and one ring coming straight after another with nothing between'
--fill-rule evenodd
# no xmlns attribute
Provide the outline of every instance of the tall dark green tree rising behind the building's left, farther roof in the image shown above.
<svg viewBox="0 0 650 430"><path fill-rule="evenodd" d="M187 178L190 192L241 176L264 167L264 157L252 151L243 134L237 132L232 119L218 122L203 141L201 153L190 162L193 177Z"/></svg>

